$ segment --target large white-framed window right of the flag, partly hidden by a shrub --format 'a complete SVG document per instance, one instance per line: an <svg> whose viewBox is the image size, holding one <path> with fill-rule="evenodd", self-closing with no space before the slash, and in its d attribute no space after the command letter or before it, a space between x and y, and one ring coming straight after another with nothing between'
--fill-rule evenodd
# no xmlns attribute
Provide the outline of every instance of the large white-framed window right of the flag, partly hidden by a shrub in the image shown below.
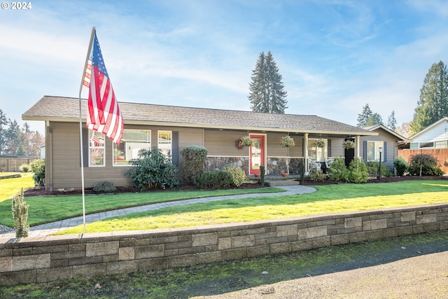
<svg viewBox="0 0 448 299"><path fill-rule="evenodd" d="M113 144L113 166L128 166L142 148L151 148L151 130L123 130L120 144Z"/></svg>

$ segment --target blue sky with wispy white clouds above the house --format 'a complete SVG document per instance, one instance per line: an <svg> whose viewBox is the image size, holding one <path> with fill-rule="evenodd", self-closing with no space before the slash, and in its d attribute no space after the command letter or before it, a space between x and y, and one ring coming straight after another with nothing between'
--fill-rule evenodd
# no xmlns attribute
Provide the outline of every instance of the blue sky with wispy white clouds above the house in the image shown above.
<svg viewBox="0 0 448 299"><path fill-rule="evenodd" d="M250 111L252 71L271 51L286 113L349 125L366 104L384 123L392 111L411 121L428 70L448 62L444 0L27 3L0 9L0 109L21 125L43 95L79 96L92 27L119 102Z"/></svg>

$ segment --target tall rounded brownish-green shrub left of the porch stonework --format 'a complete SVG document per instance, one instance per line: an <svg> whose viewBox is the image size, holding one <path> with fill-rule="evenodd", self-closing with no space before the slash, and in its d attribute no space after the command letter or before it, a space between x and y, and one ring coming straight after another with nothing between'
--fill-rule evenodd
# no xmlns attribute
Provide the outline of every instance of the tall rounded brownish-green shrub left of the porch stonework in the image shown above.
<svg viewBox="0 0 448 299"><path fill-rule="evenodd" d="M203 146L186 146L181 151L182 161L179 165L179 172L183 183L193 183L193 176L200 174L204 170L205 159L207 158L207 148Z"/></svg>

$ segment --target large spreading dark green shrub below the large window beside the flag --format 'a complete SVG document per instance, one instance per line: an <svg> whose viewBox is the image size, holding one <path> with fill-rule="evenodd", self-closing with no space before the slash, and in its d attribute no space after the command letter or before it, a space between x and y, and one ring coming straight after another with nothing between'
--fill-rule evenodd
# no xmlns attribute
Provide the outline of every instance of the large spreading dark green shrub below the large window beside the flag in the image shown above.
<svg viewBox="0 0 448 299"><path fill-rule="evenodd" d="M144 148L139 151L139 158L130 161L134 169L127 169L132 186L141 191L156 188L174 188L179 181L174 178L177 172L170 158L165 157L159 148Z"/></svg>

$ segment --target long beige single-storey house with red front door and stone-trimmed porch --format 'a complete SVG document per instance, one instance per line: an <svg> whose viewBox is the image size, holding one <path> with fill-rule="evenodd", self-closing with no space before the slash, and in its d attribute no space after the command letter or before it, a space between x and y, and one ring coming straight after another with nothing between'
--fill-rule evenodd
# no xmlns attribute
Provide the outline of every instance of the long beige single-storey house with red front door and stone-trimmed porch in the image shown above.
<svg viewBox="0 0 448 299"><path fill-rule="evenodd" d="M82 106L80 114L79 107ZM85 128L87 100L45 96L22 115L23 120L45 121L45 188L79 188L80 115L83 117L85 188L98 181L129 186L125 176L128 161L137 158L140 148L160 148L179 165L180 151L189 145L207 148L206 169L241 167L246 174L289 172L298 174L300 165L309 169L310 160L324 161L344 156L346 137L374 137L378 133L319 116L255 113L120 102L125 128L117 146L103 134ZM295 140L282 148L281 137ZM237 140L249 136L253 145L237 148ZM324 139L316 148L314 141ZM355 148L360 156L360 142Z"/></svg>

